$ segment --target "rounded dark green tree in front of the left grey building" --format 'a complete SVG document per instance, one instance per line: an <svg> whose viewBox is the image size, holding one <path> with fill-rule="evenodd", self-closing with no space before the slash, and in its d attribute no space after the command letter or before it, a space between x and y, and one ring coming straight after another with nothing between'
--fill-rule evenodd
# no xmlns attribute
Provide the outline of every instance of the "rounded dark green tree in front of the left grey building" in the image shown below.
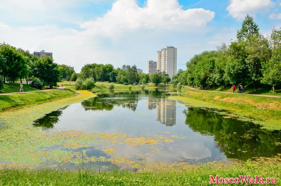
<svg viewBox="0 0 281 186"><path fill-rule="evenodd" d="M44 81L44 85L56 86L60 77L57 63L49 56L44 56L35 61L32 67L34 77Z"/></svg>

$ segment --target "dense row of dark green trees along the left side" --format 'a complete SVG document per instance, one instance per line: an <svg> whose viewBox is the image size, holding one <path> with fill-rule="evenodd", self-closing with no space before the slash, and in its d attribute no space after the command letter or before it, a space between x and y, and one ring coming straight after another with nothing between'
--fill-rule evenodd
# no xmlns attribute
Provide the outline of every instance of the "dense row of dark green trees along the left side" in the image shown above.
<svg viewBox="0 0 281 186"><path fill-rule="evenodd" d="M62 79L75 81L77 74L66 65L54 63L49 56L39 58L28 50L0 43L0 89L3 83L18 80L42 89L43 86L57 86L57 81Z"/></svg>

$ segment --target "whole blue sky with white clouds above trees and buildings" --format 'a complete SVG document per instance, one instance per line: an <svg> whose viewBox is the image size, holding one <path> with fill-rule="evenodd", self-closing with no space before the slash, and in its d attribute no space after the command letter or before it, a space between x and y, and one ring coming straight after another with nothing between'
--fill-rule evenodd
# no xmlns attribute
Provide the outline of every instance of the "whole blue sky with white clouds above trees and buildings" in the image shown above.
<svg viewBox="0 0 281 186"><path fill-rule="evenodd" d="M281 27L281 0L0 0L0 43L52 52L76 72L88 63L136 65L177 48L177 68L235 39L246 14Z"/></svg>

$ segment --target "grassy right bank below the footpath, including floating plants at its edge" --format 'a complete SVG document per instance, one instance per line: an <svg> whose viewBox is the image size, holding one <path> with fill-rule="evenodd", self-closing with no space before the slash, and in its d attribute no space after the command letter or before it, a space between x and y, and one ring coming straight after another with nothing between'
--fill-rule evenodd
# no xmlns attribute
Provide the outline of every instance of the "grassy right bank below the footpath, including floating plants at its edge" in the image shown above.
<svg viewBox="0 0 281 186"><path fill-rule="evenodd" d="M172 96L169 99L180 100L196 107L225 110L228 112L219 113L251 121L268 130L281 130L280 98L194 91L186 87L181 91L182 96Z"/></svg>

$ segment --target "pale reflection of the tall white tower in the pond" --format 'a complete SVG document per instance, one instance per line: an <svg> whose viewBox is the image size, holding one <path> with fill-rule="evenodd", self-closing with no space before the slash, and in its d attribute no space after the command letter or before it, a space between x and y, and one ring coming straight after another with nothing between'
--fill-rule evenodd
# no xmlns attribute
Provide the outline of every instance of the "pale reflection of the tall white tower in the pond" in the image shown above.
<svg viewBox="0 0 281 186"><path fill-rule="evenodd" d="M156 104L156 121L163 125L173 126L176 123L176 100L160 98Z"/></svg>

